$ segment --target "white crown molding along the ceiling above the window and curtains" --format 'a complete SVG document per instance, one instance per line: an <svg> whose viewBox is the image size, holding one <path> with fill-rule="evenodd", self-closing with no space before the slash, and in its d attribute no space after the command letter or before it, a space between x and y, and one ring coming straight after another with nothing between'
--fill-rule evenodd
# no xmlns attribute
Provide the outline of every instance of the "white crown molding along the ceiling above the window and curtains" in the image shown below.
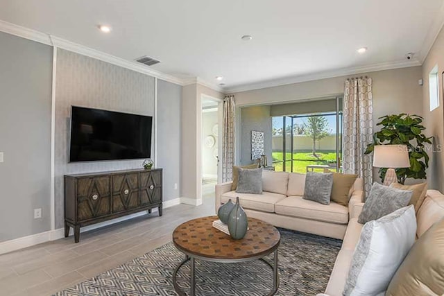
<svg viewBox="0 0 444 296"><path fill-rule="evenodd" d="M247 92L254 89L264 89L268 87L279 87L282 85L291 85L294 83L300 82L308 82L313 80L321 80L327 78L348 76L348 75L356 75L361 73L375 72L375 71L383 71L390 69L400 69L407 67L416 67L420 66L421 62L419 60L409 60L409 61L398 61L398 62L384 62L379 64L370 64L362 67L350 67L343 69L336 69L331 71L323 71L318 73L311 73L307 75L301 76L293 76L293 77L284 77L278 78L275 80L266 80L262 82L255 82L245 85L239 85L235 87L227 87L225 88L225 93L232 94L236 92Z"/></svg>

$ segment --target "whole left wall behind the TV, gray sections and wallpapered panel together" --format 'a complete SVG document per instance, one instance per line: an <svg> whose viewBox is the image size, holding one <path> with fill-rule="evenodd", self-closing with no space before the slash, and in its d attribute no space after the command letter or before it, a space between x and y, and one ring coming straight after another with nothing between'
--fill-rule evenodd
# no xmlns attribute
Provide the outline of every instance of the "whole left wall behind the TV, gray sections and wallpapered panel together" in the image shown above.
<svg viewBox="0 0 444 296"><path fill-rule="evenodd" d="M0 32L0 243L51 231L53 47ZM5 71L5 69L8 69ZM71 105L153 116L151 158L164 171L164 201L180 198L182 86L58 49L55 89L55 229L64 222L64 175L142 168L144 159L69 163ZM157 108L157 112L156 112ZM156 126L157 123L157 126ZM155 130L160 132L155 141ZM155 147L162 152L156 153ZM166 148L162 148L166 147ZM33 209L42 209L34 218ZM14 225L14 227L10 227ZM37 240L51 237L44 234ZM0 248L0 254L16 243ZM12 249L11 249L12 248Z"/></svg>

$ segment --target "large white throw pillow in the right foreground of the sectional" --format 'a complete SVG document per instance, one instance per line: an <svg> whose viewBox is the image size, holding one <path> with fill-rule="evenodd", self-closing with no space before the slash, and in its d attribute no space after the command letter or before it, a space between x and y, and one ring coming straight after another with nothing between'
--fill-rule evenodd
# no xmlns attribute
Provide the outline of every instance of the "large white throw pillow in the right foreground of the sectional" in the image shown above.
<svg viewBox="0 0 444 296"><path fill-rule="evenodd" d="M413 205L366 223L353 253L343 295L383 293L415 243L415 236Z"/></svg>

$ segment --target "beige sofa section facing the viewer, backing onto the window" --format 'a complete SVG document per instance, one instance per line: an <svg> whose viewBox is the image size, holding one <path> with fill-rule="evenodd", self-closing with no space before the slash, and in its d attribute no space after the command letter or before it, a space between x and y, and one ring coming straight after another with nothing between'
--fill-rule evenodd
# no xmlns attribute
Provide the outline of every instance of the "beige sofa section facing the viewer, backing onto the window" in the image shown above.
<svg viewBox="0 0 444 296"><path fill-rule="evenodd" d="M350 189L350 204L344 207L302 199L305 175L264 171L262 194L236 193L232 182L216 185L216 212L229 199L244 207L248 216L264 220L278 227L343 239L353 212L362 207L362 180L357 179Z"/></svg>

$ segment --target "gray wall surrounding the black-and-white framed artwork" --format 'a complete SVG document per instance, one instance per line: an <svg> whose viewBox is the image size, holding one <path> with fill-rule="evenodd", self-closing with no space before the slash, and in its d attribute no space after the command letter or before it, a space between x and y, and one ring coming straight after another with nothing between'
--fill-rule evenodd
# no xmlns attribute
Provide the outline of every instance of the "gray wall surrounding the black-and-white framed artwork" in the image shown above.
<svg viewBox="0 0 444 296"><path fill-rule="evenodd" d="M264 152L271 165L271 116L270 106L243 107L241 112L240 147L241 158L239 164L253 164L251 160L251 131L264 132Z"/></svg>

